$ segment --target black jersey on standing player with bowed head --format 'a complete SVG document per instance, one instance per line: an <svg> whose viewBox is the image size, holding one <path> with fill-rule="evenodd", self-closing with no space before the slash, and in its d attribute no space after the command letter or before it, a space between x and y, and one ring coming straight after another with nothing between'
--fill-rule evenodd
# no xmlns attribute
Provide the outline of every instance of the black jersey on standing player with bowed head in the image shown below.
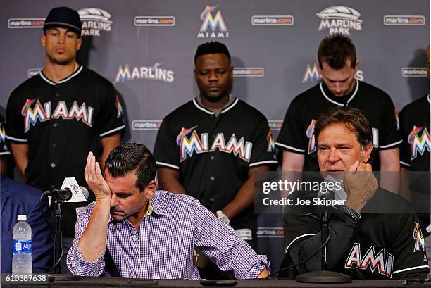
<svg viewBox="0 0 431 288"><path fill-rule="evenodd" d="M334 96L324 82L299 94L292 101L278 134L275 145L283 150L304 154L304 171L318 171L314 125L320 114L336 106L352 106L366 115L373 127L374 149L392 149L401 143L396 111L392 100L382 90L365 82L356 81L354 90L342 97ZM378 153L373 169L380 170Z"/></svg>

